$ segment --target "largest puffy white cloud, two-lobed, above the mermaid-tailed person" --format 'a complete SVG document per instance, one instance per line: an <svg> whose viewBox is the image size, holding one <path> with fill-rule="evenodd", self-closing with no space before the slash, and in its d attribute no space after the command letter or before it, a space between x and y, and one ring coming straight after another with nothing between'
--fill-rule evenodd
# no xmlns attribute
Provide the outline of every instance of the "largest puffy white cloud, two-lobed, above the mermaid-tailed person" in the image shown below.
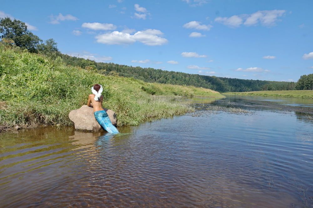
<svg viewBox="0 0 313 208"><path fill-rule="evenodd" d="M103 44L131 44L136 41L139 41L145 45L163 45L168 42L167 39L159 37L159 35L163 35L160 30L156 29L147 29L136 32L131 35L129 33L123 33L119 31L114 31L111 33L106 33L102 35L98 35L95 38L98 43Z"/></svg>

